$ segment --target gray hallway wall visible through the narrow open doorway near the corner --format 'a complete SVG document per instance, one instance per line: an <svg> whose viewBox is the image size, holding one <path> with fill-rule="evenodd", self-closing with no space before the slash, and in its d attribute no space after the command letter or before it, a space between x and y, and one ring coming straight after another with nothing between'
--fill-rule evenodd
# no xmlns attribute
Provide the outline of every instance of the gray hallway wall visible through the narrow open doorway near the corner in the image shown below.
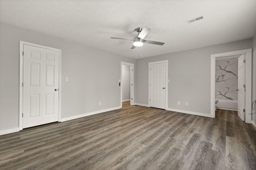
<svg viewBox="0 0 256 170"><path fill-rule="evenodd" d="M131 66L122 65L122 100L130 99Z"/></svg>

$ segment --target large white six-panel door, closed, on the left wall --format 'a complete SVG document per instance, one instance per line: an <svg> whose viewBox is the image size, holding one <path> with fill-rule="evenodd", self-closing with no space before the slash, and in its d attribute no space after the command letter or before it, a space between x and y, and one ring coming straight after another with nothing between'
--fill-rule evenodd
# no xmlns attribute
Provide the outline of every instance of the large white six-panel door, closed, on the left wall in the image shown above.
<svg viewBox="0 0 256 170"><path fill-rule="evenodd" d="M59 51L23 46L23 128L58 121Z"/></svg>

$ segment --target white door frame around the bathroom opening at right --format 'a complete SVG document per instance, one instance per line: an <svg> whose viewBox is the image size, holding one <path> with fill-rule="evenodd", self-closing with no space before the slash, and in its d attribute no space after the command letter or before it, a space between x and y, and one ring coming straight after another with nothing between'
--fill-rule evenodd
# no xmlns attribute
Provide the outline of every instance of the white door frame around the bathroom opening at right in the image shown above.
<svg viewBox="0 0 256 170"><path fill-rule="evenodd" d="M244 49L238 51L230 51L226 53L218 53L211 55L211 103L210 103L210 115L215 117L215 72L216 72L216 58L217 57L228 57L232 55L243 55L245 54L246 63L245 63L245 122L252 123L252 118L250 113L252 113L251 103L252 103L252 49Z"/></svg>

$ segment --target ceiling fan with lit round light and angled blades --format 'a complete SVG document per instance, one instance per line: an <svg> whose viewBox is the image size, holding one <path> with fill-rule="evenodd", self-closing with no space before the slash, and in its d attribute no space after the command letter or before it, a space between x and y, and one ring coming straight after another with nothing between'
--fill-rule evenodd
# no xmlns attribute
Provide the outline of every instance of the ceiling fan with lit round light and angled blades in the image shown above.
<svg viewBox="0 0 256 170"><path fill-rule="evenodd" d="M151 44L156 44L156 45L164 45L163 42L154 42L154 41L150 41L150 40L144 40L144 38L146 37L146 35L148 34L148 32L150 31L150 28L148 27L144 27L142 28L136 28L135 29L136 32L138 32L138 36L134 37L134 39L126 39L126 38L114 38L114 39L121 39L121 40L132 40L133 41L133 45L131 49L134 49L135 47L141 47L143 45L143 43L151 43Z"/></svg>

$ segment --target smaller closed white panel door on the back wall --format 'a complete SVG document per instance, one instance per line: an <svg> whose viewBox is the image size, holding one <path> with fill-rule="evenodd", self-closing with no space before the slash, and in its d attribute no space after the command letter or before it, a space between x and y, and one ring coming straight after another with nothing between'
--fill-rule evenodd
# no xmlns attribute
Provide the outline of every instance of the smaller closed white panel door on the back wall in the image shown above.
<svg viewBox="0 0 256 170"><path fill-rule="evenodd" d="M150 107L165 109L166 63L150 64Z"/></svg>

